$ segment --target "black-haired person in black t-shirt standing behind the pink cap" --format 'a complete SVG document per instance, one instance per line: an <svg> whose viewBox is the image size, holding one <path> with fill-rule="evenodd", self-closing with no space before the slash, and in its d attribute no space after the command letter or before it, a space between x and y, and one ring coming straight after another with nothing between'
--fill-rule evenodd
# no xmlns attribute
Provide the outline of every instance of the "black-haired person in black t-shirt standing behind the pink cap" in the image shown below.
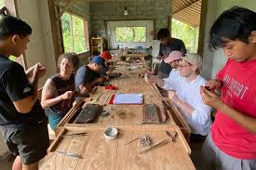
<svg viewBox="0 0 256 170"><path fill-rule="evenodd" d="M186 48L182 40L170 36L168 29L160 29L157 33L157 40L161 42L157 59L162 59L159 75L161 78L167 78L171 67L168 63L164 62L164 59L174 50L181 51L185 54Z"/></svg>

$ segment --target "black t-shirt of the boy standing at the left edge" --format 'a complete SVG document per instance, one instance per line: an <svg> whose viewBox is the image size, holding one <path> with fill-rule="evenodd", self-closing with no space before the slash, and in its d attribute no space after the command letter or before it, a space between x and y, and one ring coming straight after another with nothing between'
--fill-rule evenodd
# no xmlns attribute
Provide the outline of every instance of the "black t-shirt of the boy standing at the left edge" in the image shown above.
<svg viewBox="0 0 256 170"><path fill-rule="evenodd" d="M0 84L0 125L24 126L47 122L38 100L28 113L16 110L13 101L31 96L33 89L22 66L3 56L0 56Z"/></svg>

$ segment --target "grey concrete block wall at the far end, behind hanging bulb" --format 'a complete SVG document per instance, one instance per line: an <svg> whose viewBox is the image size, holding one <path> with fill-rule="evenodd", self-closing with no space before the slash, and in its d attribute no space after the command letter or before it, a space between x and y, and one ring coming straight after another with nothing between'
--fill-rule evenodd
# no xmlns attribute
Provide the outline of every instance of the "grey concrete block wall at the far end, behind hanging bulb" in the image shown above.
<svg viewBox="0 0 256 170"><path fill-rule="evenodd" d="M124 15L125 7L128 16ZM107 37L105 20L155 20L155 29L168 27L171 0L98 1L89 3L91 35Z"/></svg>

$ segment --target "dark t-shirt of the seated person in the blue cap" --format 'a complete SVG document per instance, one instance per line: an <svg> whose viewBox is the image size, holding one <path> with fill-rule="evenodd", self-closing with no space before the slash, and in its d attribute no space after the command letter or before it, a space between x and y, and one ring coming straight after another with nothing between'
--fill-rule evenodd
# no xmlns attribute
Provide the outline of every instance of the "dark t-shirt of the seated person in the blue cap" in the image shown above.
<svg viewBox="0 0 256 170"><path fill-rule="evenodd" d="M88 85L90 82L96 80L99 77L101 77L101 75L98 72L89 69L88 66L80 67L74 78L76 90L79 91L79 85Z"/></svg>

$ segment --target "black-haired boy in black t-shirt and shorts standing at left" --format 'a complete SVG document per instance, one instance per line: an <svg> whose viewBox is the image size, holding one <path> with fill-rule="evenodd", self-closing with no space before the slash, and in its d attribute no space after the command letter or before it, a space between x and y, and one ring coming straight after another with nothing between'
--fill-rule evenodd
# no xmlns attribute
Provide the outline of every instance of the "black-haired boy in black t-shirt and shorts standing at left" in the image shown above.
<svg viewBox="0 0 256 170"><path fill-rule="evenodd" d="M12 169L38 169L49 144L47 118L37 99L38 80L46 73L41 63L24 72L8 58L18 58L32 33L24 21L7 16L0 20L0 130L8 149L17 155Z"/></svg>

